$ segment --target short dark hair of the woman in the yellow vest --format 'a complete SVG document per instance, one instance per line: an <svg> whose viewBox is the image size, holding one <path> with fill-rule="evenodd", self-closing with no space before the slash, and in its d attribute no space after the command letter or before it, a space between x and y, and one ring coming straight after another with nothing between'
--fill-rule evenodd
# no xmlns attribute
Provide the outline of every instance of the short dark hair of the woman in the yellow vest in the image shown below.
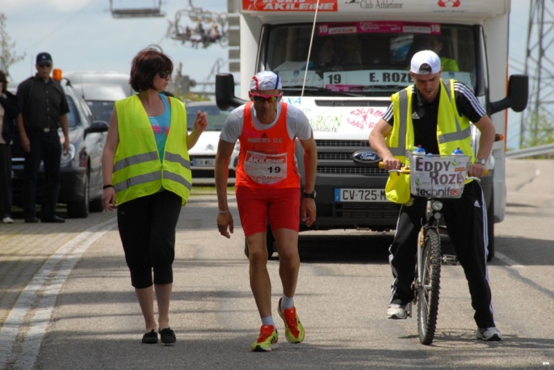
<svg viewBox="0 0 554 370"><path fill-rule="evenodd" d="M154 77L160 72L173 72L173 62L159 46L148 46L133 58L129 84L138 93L151 89Z"/></svg>

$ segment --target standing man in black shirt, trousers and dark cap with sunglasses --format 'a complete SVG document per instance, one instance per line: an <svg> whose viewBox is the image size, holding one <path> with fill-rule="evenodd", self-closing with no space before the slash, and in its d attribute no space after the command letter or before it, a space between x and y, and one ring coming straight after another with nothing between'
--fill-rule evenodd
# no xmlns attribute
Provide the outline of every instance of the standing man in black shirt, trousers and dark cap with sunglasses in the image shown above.
<svg viewBox="0 0 554 370"><path fill-rule="evenodd" d="M21 147L25 151L24 216L25 222L36 223L37 177L40 163L44 163L44 193L42 194L42 222L65 222L56 216L57 192L60 189L60 159L62 145L57 129L64 133L64 154L69 153L69 105L62 86L50 77L52 57L37 55L37 74L21 82L17 98L21 115L17 129Z"/></svg>

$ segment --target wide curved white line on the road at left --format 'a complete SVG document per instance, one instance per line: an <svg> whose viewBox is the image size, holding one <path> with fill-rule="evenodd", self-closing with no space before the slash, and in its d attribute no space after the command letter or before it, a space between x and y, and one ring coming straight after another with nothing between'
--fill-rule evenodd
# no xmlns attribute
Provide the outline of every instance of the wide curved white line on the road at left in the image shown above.
<svg viewBox="0 0 554 370"><path fill-rule="evenodd" d="M61 246L19 295L0 329L0 369L33 369L57 295L75 263L92 243L117 225L94 225Z"/></svg>

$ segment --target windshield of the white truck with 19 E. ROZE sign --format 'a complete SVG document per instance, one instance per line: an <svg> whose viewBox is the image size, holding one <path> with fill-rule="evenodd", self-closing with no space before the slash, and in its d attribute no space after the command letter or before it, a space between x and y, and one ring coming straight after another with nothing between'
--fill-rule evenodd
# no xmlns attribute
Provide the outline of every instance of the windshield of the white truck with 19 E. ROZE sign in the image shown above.
<svg viewBox="0 0 554 370"><path fill-rule="evenodd" d="M454 78L474 89L474 32L471 26L438 23L319 23L307 62L312 24L274 25L267 34L262 64L278 73L288 94L299 93L304 85L308 96L390 95L412 83L411 57L427 49L440 56L441 77Z"/></svg>

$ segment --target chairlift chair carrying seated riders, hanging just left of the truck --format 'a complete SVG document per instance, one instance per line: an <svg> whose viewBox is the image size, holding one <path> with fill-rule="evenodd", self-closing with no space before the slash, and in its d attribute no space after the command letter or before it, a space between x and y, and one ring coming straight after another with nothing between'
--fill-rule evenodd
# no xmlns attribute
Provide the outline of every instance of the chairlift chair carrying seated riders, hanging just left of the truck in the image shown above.
<svg viewBox="0 0 554 370"><path fill-rule="evenodd" d="M189 0L189 4L190 8L177 10L175 21L168 21L166 37L193 48L207 48L212 44L229 46L227 13L196 8L192 0Z"/></svg>

